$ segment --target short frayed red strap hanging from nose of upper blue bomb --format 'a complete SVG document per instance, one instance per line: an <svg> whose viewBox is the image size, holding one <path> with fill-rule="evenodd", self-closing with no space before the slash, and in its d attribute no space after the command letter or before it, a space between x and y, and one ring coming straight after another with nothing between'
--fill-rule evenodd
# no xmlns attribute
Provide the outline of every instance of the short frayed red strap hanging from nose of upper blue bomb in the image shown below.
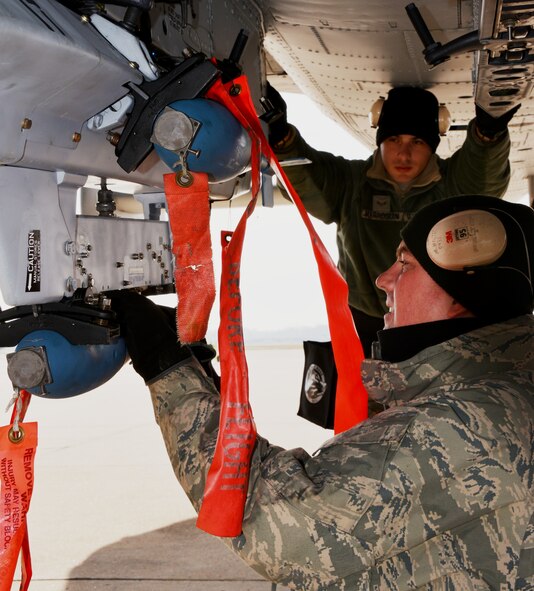
<svg viewBox="0 0 534 591"><path fill-rule="evenodd" d="M189 174L193 183L188 187L177 183L174 173L163 177L169 223L173 237L177 237L172 241L172 252L178 293L176 324L182 343L206 336L215 300L208 175Z"/></svg>

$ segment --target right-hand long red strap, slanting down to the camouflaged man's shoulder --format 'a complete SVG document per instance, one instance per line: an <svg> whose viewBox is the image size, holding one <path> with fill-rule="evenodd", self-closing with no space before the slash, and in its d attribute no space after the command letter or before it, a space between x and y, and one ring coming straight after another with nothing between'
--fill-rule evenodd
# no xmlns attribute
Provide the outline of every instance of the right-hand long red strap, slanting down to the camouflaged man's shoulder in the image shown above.
<svg viewBox="0 0 534 591"><path fill-rule="evenodd" d="M229 90L232 89L232 92ZM236 92L239 89L240 92ZM361 381L363 349L348 307L348 287L311 223L306 209L274 155L254 110L245 76L223 87L217 81L207 93L223 103L260 142L261 153L281 179L308 229L325 298L328 326L338 371L334 430L341 433L367 418L367 392ZM254 193L255 194L255 193Z"/></svg>

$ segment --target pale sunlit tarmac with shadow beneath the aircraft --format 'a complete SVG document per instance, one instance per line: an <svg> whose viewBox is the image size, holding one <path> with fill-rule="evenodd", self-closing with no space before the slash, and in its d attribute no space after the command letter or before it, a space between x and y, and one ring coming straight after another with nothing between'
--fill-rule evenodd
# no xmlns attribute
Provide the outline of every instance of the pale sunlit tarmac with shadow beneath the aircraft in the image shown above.
<svg viewBox="0 0 534 591"><path fill-rule="evenodd" d="M247 349L258 432L312 453L332 432L296 416L303 360L302 345ZM7 404L11 384L4 366L0 385ZM28 513L30 591L274 589L195 527L147 388L131 366L75 398L34 396L26 420L39 425ZM19 580L17 567L12 591Z"/></svg>

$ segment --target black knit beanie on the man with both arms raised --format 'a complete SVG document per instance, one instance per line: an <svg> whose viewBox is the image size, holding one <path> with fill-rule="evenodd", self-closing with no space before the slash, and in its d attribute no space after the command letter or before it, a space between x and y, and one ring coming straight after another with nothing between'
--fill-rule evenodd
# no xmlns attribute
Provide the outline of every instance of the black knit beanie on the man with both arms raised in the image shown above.
<svg viewBox="0 0 534 591"><path fill-rule="evenodd" d="M414 135L425 140L432 152L438 147L439 103L428 90L414 86L399 86L388 92L382 105L376 145L392 135Z"/></svg>

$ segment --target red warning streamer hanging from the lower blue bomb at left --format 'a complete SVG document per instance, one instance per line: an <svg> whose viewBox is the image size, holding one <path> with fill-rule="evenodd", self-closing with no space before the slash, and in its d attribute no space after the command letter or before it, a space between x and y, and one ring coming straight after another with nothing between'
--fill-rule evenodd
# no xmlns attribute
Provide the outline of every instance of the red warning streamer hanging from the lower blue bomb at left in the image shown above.
<svg viewBox="0 0 534 591"><path fill-rule="evenodd" d="M20 591L27 591L32 565L26 514L33 492L33 463L37 448L37 423L22 421L31 394L21 390L11 424L0 427L0 591L9 591L21 554ZM18 413L17 430L14 421Z"/></svg>

